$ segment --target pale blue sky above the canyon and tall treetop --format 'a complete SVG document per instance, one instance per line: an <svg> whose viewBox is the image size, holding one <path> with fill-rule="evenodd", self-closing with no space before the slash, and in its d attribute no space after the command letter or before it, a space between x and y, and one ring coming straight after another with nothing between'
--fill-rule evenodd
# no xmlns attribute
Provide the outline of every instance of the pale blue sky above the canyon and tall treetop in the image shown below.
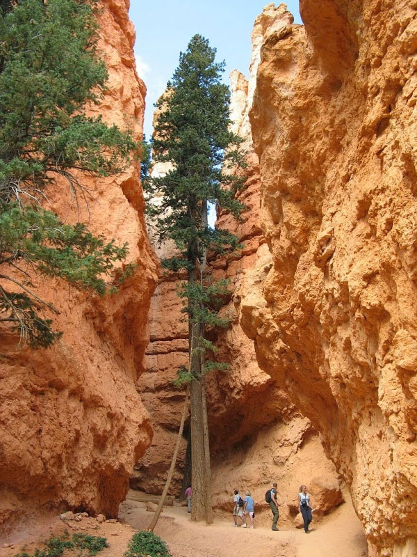
<svg viewBox="0 0 417 557"><path fill-rule="evenodd" d="M145 134L152 133L153 104L163 93L178 65L179 52L199 33L226 61L224 81L234 68L247 76L250 35L254 20L268 0L131 0L130 18L136 27L136 62L147 86ZM286 2L296 23L301 23L298 0ZM277 6L278 3L275 3Z"/></svg>

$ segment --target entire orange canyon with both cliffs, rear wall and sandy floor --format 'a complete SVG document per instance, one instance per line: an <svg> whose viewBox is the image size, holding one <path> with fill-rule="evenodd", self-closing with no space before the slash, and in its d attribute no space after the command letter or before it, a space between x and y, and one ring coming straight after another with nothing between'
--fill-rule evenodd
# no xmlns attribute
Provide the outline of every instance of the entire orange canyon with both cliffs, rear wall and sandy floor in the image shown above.
<svg viewBox="0 0 417 557"><path fill-rule="evenodd" d="M108 82L89 113L141 139L140 28L129 0L99 6ZM229 370L206 376L215 521L191 521L179 503L188 417L174 505L155 530L173 557L417 555L416 10L411 0L300 0L295 24L270 3L254 22L248 78L231 72L247 167L240 219L216 215L241 248L208 259L213 278L229 281L219 312L229 325L210 333L211 356ZM151 174L169 169L156 163ZM110 547L100 555L122 557L149 526L147 496L163 491L181 421L184 275L161 268L175 249L145 216L160 201L145 202L140 161L87 176L88 204L59 180L49 208L129 243L115 275L134 267L105 297L35 276L63 331L47 349L19 345L0 322L0 554L34 548L64 521L70 533L101 528ZM274 482L277 533L265 502ZM233 528L237 488L254 499L253 532Z"/></svg>

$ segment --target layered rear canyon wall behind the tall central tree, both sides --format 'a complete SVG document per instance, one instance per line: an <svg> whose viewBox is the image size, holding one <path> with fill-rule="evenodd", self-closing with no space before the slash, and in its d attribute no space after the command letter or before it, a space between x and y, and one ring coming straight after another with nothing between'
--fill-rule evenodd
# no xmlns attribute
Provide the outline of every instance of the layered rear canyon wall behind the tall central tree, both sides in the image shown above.
<svg viewBox="0 0 417 557"><path fill-rule="evenodd" d="M237 71L231 74L231 119L234 131L245 138L248 162L245 186L238 198L247 209L240 221L227 212L218 214L218 226L236 234L243 248L227 260L218 258L211 262L213 276L228 278L231 290L229 302L221 311L231 323L211 339L218 348L215 357L229 363L230 369L213 372L206 379L212 492L216 514L228 513L230 517L234 489L241 493L249 489L256 503L256 524L270 526L265 491L276 481L280 524L291 527L294 521L300 526L297 494L302 483L309 482L316 498L318 519L341 503L343 494L334 464L325 456L318 433L293 405L283 385L259 368L254 344L240 326L239 292L245 275L261 260L265 272L272 265L261 230L259 159L253 149L249 122L262 38L263 22L257 22L252 35L249 81ZM164 164L156 164L152 175L166 171ZM152 202L157 204L158 199ZM152 223L148 225L152 237ZM160 258L173 254L170 244L155 248ZM165 483L183 406L183 390L174 388L172 380L179 366L188 363L188 327L182 321L178 281L173 274L162 274L159 279L149 313L151 341L146 350L146 371L138 379L138 391L152 416L155 433L151 448L135 465L131 486L156 494L161 493ZM185 455L183 439L170 487L172 494L179 494Z"/></svg>

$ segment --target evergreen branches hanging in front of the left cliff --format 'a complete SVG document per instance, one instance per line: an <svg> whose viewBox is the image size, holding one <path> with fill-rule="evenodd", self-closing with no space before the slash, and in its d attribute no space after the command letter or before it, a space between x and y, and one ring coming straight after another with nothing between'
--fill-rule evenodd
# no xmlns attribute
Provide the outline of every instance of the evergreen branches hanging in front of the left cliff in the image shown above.
<svg viewBox="0 0 417 557"><path fill-rule="evenodd" d="M46 189L65 184L76 203L85 174L130 164L130 132L89 117L108 77L97 56L96 0L0 0L0 321L33 347L60 336L55 308L33 291L33 274L104 294L127 246L63 224L42 208ZM119 276L119 281L122 276ZM113 283L118 282L113 279Z"/></svg>

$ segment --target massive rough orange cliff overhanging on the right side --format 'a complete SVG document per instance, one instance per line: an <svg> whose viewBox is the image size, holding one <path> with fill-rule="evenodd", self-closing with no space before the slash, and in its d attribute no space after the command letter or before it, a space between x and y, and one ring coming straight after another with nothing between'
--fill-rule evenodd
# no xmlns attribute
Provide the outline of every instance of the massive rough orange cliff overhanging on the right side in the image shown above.
<svg viewBox="0 0 417 557"><path fill-rule="evenodd" d="M259 366L320 432L370 554L395 557L417 551L416 8L265 8L250 123L272 258L239 291Z"/></svg>

